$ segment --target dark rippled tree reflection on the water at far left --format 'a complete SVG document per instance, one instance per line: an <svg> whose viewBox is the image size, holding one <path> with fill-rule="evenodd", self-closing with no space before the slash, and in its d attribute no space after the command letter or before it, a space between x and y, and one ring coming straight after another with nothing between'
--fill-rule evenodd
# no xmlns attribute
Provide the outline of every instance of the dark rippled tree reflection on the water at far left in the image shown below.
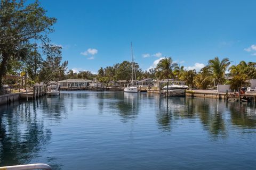
<svg viewBox="0 0 256 170"><path fill-rule="evenodd" d="M33 103L15 104L0 115L1 166L27 164L49 143L51 130L38 120L34 108Z"/></svg>

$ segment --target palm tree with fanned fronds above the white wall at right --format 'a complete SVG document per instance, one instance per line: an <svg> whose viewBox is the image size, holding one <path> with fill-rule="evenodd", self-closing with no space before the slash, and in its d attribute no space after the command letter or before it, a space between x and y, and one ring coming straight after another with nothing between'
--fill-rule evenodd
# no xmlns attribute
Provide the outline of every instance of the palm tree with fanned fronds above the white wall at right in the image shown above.
<svg viewBox="0 0 256 170"><path fill-rule="evenodd" d="M215 78L217 84L223 82L225 72L230 63L228 58L223 58L223 60L220 61L219 57L215 57L213 60L208 61L206 68L212 72L213 78Z"/></svg>

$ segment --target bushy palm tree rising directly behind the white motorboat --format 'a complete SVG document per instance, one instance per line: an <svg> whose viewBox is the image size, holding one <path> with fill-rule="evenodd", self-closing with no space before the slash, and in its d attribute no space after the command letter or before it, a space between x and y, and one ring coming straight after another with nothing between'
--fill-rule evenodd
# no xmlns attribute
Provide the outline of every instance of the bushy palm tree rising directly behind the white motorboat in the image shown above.
<svg viewBox="0 0 256 170"><path fill-rule="evenodd" d="M178 66L177 63L173 63L171 57L165 57L159 61L156 66L156 75L158 79L174 78L173 69Z"/></svg>

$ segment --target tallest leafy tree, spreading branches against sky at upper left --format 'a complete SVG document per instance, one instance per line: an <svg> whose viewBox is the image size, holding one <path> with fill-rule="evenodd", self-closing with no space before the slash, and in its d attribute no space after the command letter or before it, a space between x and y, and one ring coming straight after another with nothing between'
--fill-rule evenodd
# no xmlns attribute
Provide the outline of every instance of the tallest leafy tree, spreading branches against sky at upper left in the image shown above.
<svg viewBox="0 0 256 170"><path fill-rule="evenodd" d="M28 55L31 39L50 43L47 34L53 32L51 26L55 18L46 16L46 11L38 1L32 4L25 0L0 1L0 90L10 60L21 60Z"/></svg>

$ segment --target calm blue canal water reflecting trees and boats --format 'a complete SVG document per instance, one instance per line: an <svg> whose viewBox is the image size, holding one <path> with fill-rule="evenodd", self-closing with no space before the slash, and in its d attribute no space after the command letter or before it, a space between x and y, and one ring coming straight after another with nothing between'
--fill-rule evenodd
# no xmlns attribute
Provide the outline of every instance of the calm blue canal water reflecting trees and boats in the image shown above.
<svg viewBox="0 0 256 170"><path fill-rule="evenodd" d="M0 165L255 169L255 107L89 91L1 106Z"/></svg>

